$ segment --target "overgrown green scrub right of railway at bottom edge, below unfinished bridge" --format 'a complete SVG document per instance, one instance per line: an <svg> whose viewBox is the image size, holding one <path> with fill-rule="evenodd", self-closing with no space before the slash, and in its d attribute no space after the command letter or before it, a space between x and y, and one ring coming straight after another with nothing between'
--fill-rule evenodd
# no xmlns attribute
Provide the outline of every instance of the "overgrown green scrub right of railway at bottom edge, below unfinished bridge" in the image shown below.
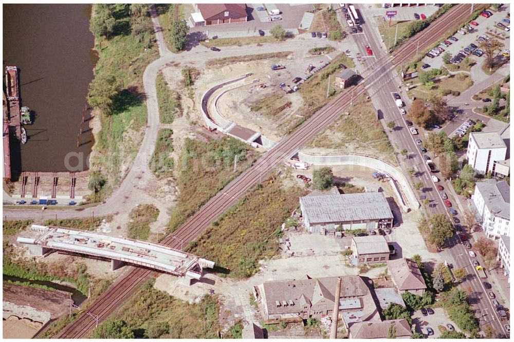
<svg viewBox="0 0 514 342"><path fill-rule="evenodd" d="M141 286L115 315L93 335L110 338L216 338L219 331L216 296L205 296L189 304L154 289L153 282Z"/></svg>

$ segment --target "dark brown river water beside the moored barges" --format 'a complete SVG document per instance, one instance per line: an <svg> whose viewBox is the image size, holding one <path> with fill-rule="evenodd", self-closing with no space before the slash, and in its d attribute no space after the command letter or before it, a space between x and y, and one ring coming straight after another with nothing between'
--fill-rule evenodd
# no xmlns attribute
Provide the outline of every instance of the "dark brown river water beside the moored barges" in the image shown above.
<svg viewBox="0 0 514 342"><path fill-rule="evenodd" d="M13 174L20 170L70 171L67 155L80 156L87 169L93 145L88 113L79 147L77 140L87 87L98 59L89 32L91 6L27 4L3 5L3 9L2 72L6 65L20 69L22 105L34 112L33 124L25 126L27 143L11 145ZM77 165L77 157L69 160L71 166Z"/></svg>

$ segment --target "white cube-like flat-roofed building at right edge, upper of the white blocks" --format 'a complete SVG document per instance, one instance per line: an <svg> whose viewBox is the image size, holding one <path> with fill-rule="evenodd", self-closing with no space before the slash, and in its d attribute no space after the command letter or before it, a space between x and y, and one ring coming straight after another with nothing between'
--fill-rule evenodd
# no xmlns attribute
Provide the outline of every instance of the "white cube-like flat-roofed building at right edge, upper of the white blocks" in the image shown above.
<svg viewBox="0 0 514 342"><path fill-rule="evenodd" d="M486 174L490 171L495 174L497 171L495 161L504 161L506 156L507 145L505 141L503 141L500 133L473 132L469 134L466 158L468 159L468 164L471 165L477 173ZM505 173L503 168L498 171L502 174Z"/></svg>

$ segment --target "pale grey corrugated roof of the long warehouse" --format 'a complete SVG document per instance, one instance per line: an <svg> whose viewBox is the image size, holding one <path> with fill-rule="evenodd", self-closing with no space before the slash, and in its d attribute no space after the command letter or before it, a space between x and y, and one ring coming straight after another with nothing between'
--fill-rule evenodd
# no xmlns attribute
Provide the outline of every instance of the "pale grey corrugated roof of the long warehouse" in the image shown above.
<svg viewBox="0 0 514 342"><path fill-rule="evenodd" d="M300 203L311 224L393 218L383 192L304 196Z"/></svg>

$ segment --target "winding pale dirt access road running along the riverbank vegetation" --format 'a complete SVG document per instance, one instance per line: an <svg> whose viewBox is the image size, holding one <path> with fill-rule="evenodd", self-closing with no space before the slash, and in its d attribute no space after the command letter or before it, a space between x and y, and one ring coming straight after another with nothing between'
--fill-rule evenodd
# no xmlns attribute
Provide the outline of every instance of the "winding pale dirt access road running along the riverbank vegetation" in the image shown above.
<svg viewBox="0 0 514 342"><path fill-rule="evenodd" d="M126 175L120 186L113 194L102 204L89 208L66 208L55 210L40 209L19 209L4 208L4 215L7 219L32 219L47 220L55 218L56 215L60 219L90 217L93 215L107 215L128 212L134 206L135 199L137 203L141 202L141 194L145 193L144 189L150 188L156 182L155 176L149 169L149 161L155 149L157 134L160 129L159 123L159 106L157 103L155 79L159 71L166 66L175 63L179 65L195 66L199 70L205 68L205 62L212 58L225 58L244 55L258 55L261 53L270 53L277 51L292 51L295 55L305 55L305 50L310 47L322 47L326 45L334 46L340 49L342 43L332 42L325 39L309 39L307 37L296 37L288 39L280 43L264 44L256 48L255 44L246 46L228 46L219 52L211 51L202 45L189 48L182 53L172 53L166 46L166 41L162 34L162 28L157 19L155 10L152 7L152 22L154 24L157 44L159 47L160 58L150 63L143 73L143 87L146 95L146 107L148 111L148 121L141 147L134 159L133 165ZM152 197L148 195L148 198ZM155 202L151 201L150 203ZM166 211L157 206L161 212Z"/></svg>

